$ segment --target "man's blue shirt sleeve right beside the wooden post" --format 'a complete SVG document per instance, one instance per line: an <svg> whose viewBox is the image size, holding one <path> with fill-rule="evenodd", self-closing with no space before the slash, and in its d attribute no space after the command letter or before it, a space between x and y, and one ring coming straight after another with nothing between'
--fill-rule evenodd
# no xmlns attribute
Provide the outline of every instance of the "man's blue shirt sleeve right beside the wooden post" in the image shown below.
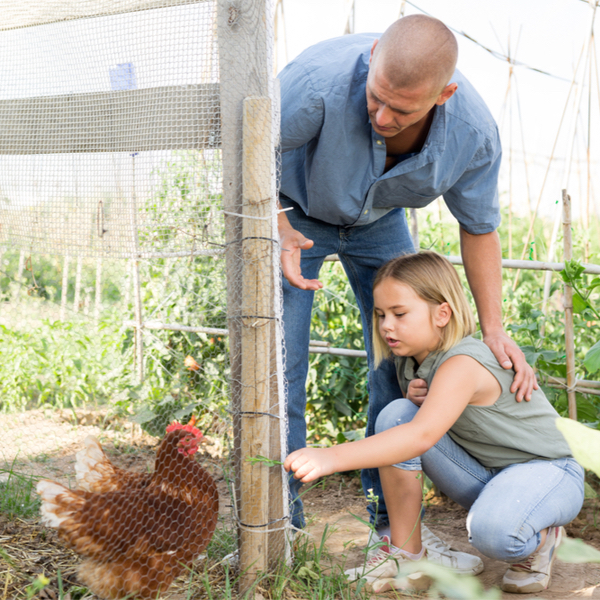
<svg viewBox="0 0 600 600"><path fill-rule="evenodd" d="M291 62L279 74L281 83L281 151L316 138L323 126L323 101L303 65Z"/></svg>

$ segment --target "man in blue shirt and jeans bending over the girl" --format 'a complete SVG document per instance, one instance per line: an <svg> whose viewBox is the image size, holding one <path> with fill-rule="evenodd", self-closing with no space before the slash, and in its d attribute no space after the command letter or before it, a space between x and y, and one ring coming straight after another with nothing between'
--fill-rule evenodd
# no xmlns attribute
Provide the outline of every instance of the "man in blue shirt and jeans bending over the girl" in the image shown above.
<svg viewBox="0 0 600 600"><path fill-rule="evenodd" d="M359 34L317 44L280 74L280 203L292 209L279 214L290 452L306 445L310 314L324 258L339 255L360 307L372 435L380 410L402 395L393 364L372 369L372 281L383 263L414 251L404 208L426 206L440 195L460 225L485 343L503 367L514 367L519 401L537 387L502 327L498 130L475 89L455 71L457 55L443 23L413 15L379 40ZM427 389L421 391L424 399ZM302 527L297 482L291 487L293 524ZM382 532L387 513L376 469L363 472L363 487L379 497L370 512ZM427 539L428 532L426 545ZM443 544L431 539L433 546ZM456 561L469 563L469 555L459 554L452 560L461 570ZM481 567L480 561L466 563L465 572Z"/></svg>

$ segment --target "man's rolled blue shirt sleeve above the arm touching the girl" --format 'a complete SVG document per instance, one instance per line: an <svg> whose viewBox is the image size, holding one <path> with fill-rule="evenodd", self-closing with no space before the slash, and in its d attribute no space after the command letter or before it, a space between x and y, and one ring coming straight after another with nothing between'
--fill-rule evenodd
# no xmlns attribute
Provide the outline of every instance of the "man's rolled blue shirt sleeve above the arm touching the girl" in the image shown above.
<svg viewBox="0 0 600 600"><path fill-rule="evenodd" d="M458 181L444 193L450 212L470 234L495 231L500 225L498 173L502 146L498 129L486 136Z"/></svg>

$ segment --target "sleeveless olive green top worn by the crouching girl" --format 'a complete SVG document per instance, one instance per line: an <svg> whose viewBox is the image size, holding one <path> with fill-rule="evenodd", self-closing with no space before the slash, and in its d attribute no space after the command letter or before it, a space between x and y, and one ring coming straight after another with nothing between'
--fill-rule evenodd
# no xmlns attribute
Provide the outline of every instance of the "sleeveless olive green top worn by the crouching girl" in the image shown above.
<svg viewBox="0 0 600 600"><path fill-rule="evenodd" d="M528 460L552 460L572 456L556 428L559 416L542 390L533 390L531 401L517 402L510 391L515 372L503 369L492 351L470 336L447 352L430 354L419 366L412 357L396 358L396 371L403 394L411 379L424 379L428 386L440 367L452 356L474 358L498 381L502 392L491 406L468 405L448 434L485 467L506 467Z"/></svg>

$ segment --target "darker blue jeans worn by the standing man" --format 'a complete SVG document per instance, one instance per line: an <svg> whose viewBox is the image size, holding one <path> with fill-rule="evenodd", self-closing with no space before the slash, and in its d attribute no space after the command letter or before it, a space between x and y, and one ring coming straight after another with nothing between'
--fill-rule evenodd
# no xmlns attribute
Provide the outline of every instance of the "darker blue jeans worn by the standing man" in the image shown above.
<svg viewBox="0 0 600 600"><path fill-rule="evenodd" d="M373 312L373 279L377 269L388 260L413 252L412 239L406 224L404 209L395 209L374 223L361 227L330 225L307 217L302 209L286 198L284 208L293 206L287 217L291 226L314 241L310 250L302 251L302 275L317 279L325 257L338 254L346 271L360 308L369 361L369 412L367 435L374 432L379 411L401 395L392 363L373 371L371 351L371 316ZM321 292L323 293L323 292ZM308 344L314 292L299 290L283 279L283 323L285 339L285 376L288 386L288 452L306 446L306 375L308 373ZM304 527L302 501L298 497L301 484L290 479L292 524ZM363 471L363 488L383 498L377 469ZM371 507L375 514L375 507ZM387 523L385 505L380 505L382 523Z"/></svg>

